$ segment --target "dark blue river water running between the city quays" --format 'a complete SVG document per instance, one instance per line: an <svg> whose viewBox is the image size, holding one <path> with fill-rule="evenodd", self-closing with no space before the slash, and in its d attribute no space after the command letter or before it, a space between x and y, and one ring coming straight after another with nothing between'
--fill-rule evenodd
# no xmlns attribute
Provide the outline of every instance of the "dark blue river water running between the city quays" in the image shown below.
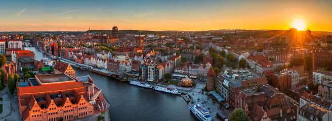
<svg viewBox="0 0 332 121"><path fill-rule="evenodd" d="M39 61L45 56L34 47L25 49L34 50L35 58ZM102 89L102 94L111 103L111 120L195 120L189 104L181 96L136 87L75 67L73 69L76 77L90 75L95 85Z"/></svg>

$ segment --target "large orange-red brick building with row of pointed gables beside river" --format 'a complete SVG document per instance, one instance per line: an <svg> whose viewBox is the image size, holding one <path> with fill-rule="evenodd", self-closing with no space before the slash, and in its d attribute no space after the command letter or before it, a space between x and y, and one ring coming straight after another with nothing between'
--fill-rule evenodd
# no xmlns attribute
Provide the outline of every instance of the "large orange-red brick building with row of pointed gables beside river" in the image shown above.
<svg viewBox="0 0 332 121"><path fill-rule="evenodd" d="M88 95L92 88L95 89L93 95ZM85 117L98 113L94 106L99 103L96 102L98 96L98 100L102 100L101 90L93 86L89 76L78 80L65 74L35 75L28 81L17 82L16 89L23 120L55 121Z"/></svg>

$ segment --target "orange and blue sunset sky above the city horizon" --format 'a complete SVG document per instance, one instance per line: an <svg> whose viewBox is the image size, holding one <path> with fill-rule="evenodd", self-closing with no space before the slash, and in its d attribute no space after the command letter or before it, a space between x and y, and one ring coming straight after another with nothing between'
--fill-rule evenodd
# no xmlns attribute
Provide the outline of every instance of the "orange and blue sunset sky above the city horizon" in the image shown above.
<svg viewBox="0 0 332 121"><path fill-rule="evenodd" d="M0 31L305 29L332 31L332 1L3 1Z"/></svg>

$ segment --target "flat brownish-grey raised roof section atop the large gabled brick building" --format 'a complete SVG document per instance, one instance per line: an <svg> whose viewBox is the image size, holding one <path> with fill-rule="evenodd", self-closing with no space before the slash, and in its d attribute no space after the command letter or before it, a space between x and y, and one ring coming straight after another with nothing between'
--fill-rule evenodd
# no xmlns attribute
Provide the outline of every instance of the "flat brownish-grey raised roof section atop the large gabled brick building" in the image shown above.
<svg viewBox="0 0 332 121"><path fill-rule="evenodd" d="M35 77L36 77L36 80L39 81L41 85L48 84L48 83L75 81L75 79L73 79L63 73L62 74L35 75Z"/></svg>

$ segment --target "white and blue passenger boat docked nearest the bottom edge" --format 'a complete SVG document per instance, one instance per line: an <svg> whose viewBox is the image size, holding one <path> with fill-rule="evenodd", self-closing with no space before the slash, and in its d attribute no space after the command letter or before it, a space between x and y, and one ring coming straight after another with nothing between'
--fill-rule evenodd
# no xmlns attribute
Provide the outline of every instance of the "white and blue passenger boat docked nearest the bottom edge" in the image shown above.
<svg viewBox="0 0 332 121"><path fill-rule="evenodd" d="M203 107L199 106L198 103L194 103L190 105L190 111L195 114L195 116L201 121L209 121L212 120L210 111L204 109Z"/></svg>

